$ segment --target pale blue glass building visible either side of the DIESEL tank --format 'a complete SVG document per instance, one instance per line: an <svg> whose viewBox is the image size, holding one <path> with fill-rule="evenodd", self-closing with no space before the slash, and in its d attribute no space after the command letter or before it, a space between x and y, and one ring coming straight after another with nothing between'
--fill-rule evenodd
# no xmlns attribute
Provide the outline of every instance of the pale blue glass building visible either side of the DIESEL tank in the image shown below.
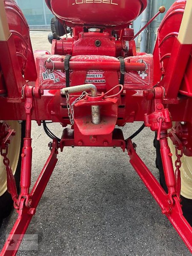
<svg viewBox="0 0 192 256"><path fill-rule="evenodd" d="M24 13L30 29L32 30L50 30L50 23L53 14L48 9L44 0L15 0ZM126 1L126 0L121 0ZM164 5L166 10L174 3L175 0L148 0L148 8L133 22L133 28L137 33L151 17L158 11L159 7ZM157 36L157 28L164 14L160 14L140 36L136 38L141 52L152 53Z"/></svg>

